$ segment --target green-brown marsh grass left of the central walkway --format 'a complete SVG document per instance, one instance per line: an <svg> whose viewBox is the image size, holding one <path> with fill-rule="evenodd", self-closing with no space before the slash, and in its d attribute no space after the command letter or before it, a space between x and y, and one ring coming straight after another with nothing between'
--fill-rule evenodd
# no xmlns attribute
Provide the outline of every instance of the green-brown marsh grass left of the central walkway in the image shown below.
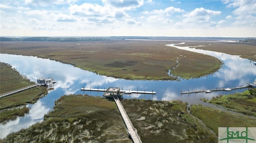
<svg viewBox="0 0 256 143"><path fill-rule="evenodd" d="M62 96L44 121L1 142L131 143L115 103L96 96Z"/></svg>

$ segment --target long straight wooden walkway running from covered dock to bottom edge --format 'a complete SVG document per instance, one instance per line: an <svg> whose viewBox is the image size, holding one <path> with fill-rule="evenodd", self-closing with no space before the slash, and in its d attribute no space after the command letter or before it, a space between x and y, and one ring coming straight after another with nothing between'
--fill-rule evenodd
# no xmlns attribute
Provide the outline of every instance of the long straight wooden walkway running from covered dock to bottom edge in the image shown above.
<svg viewBox="0 0 256 143"><path fill-rule="evenodd" d="M133 127L132 122L130 121L128 115L126 114L124 107L122 106L120 100L118 99L118 97L114 97L114 100L116 102L116 106L118 107L120 114L122 115L122 118L123 118L124 123L127 128L128 135L130 135L132 137L132 141L134 143L142 143L140 140L140 137L137 134L136 128Z"/></svg>

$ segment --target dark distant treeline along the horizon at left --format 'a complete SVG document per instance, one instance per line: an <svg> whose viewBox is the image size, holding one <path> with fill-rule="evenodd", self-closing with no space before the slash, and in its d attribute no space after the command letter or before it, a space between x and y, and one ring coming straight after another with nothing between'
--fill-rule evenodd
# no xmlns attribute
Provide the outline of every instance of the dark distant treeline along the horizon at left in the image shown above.
<svg viewBox="0 0 256 143"><path fill-rule="evenodd" d="M74 41L107 41L108 38L102 37L23 37L23 38L7 38L0 37L0 41L60 41L60 42L74 42Z"/></svg>

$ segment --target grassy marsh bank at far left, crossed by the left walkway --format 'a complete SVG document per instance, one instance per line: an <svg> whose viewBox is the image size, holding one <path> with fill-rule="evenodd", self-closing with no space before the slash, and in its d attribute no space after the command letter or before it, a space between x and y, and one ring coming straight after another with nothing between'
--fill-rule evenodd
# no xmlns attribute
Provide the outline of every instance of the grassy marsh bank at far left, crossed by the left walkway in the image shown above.
<svg viewBox="0 0 256 143"><path fill-rule="evenodd" d="M6 63L0 63L0 92L1 94L26 87L34 82L21 76L16 70ZM26 104L35 103L42 95L47 94L46 87L37 86L6 96L0 100L0 123L10 119L16 119L18 116L24 116L28 113L29 108L16 108ZM8 110L7 110L8 109Z"/></svg>

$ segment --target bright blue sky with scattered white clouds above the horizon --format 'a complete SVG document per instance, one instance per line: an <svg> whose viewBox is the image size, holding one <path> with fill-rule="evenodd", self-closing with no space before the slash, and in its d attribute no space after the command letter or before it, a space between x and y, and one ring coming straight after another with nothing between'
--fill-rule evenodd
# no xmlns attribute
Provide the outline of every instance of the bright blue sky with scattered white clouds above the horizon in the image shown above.
<svg viewBox="0 0 256 143"><path fill-rule="evenodd" d="M0 0L0 36L256 37L255 0Z"/></svg>

